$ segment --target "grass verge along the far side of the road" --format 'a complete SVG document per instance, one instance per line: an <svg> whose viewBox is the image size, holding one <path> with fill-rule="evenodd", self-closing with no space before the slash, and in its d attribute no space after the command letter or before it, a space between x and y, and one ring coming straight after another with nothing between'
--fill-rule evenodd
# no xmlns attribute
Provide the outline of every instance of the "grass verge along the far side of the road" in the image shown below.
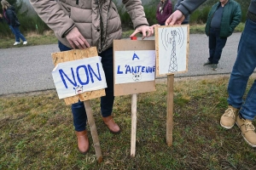
<svg viewBox="0 0 256 170"><path fill-rule="evenodd" d="M241 32L244 28L244 24L241 23L239 26L236 27L236 32ZM127 28L123 31L123 38L130 37L133 33L133 30L127 30ZM204 34L205 33L205 25L191 25L190 26L190 33L191 34ZM36 32L30 32L25 34L27 39L26 46L34 46L34 45L43 45L43 44L55 44L57 43L57 38L55 37L52 31L44 31L43 35L40 35ZM137 34L137 37L142 37L141 34ZM19 45L14 46L15 37L2 37L2 41L0 41L0 48L20 48L24 47L22 43Z"/></svg>

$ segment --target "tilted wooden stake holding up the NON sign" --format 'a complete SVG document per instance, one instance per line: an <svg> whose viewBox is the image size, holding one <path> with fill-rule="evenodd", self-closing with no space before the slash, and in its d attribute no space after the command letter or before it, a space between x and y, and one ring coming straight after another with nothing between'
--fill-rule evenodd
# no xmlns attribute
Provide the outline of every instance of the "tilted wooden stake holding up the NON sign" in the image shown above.
<svg viewBox="0 0 256 170"><path fill-rule="evenodd" d="M91 133L93 145L94 145L94 148L96 151L97 161L98 161L98 163L101 163L102 162L102 150L101 150L100 140L99 140L97 129L96 129L96 124L95 124L94 117L92 115L92 110L90 107L90 100L84 101L84 107L85 107L87 119L88 119L88 122L90 125L90 133Z"/></svg>

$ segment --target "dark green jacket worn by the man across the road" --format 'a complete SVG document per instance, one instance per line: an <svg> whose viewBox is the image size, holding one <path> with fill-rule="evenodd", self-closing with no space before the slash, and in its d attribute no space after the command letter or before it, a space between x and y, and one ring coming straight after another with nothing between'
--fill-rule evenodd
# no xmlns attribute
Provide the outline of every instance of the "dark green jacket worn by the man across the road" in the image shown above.
<svg viewBox="0 0 256 170"><path fill-rule="evenodd" d="M212 6L211 11L208 14L206 34L209 36L210 26L212 22L212 17L218 6L221 5L219 2ZM234 0L229 0L228 3L224 5L224 11L220 23L220 37L230 37L236 26L241 21L241 7L239 3Z"/></svg>

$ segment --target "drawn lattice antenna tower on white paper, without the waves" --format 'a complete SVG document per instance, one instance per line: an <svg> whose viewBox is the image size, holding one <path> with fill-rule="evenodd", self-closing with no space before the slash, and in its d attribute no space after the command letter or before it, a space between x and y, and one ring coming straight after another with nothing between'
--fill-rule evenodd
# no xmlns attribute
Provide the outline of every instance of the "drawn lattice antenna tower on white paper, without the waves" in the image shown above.
<svg viewBox="0 0 256 170"><path fill-rule="evenodd" d="M176 40L177 31L172 31L172 54L168 72L177 72Z"/></svg>

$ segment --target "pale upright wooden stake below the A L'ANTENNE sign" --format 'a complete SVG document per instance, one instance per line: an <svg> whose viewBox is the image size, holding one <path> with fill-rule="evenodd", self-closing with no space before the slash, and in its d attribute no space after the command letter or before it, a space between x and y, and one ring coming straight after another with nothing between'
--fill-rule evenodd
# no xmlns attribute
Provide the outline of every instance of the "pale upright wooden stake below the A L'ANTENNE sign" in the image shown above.
<svg viewBox="0 0 256 170"><path fill-rule="evenodd" d="M137 94L131 96L131 156L135 156L137 130Z"/></svg>

